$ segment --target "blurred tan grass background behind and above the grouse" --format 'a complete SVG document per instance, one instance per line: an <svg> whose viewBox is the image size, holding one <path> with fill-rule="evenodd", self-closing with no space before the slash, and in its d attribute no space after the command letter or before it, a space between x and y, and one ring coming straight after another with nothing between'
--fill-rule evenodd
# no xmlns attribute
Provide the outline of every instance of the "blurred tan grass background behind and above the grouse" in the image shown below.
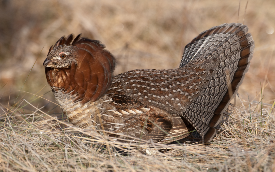
<svg viewBox="0 0 275 172"><path fill-rule="evenodd" d="M84 37L101 40L117 59L117 75L131 69L177 68L185 45L195 36L231 22L248 25L255 40L251 67L238 92L242 98L249 95L255 101L262 86L264 101L272 104L274 0L1 0L0 89L6 85L0 91L0 103L7 107L15 102L17 90L23 86L36 59L22 90L37 94L45 86L38 95L50 91L43 61L50 46L63 35L82 33ZM21 92L18 99L32 96ZM55 101L51 92L44 97ZM39 99L36 103L47 101Z"/></svg>

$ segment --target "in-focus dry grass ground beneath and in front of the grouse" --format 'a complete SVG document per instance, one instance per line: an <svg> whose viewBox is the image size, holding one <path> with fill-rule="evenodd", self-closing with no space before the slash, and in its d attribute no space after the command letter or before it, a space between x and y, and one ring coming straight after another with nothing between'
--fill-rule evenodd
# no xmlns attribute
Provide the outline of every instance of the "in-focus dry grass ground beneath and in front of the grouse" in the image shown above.
<svg viewBox="0 0 275 172"><path fill-rule="evenodd" d="M274 109L259 105L232 108L210 144L192 132L165 145L88 136L22 100L0 119L0 171L274 171Z"/></svg>

